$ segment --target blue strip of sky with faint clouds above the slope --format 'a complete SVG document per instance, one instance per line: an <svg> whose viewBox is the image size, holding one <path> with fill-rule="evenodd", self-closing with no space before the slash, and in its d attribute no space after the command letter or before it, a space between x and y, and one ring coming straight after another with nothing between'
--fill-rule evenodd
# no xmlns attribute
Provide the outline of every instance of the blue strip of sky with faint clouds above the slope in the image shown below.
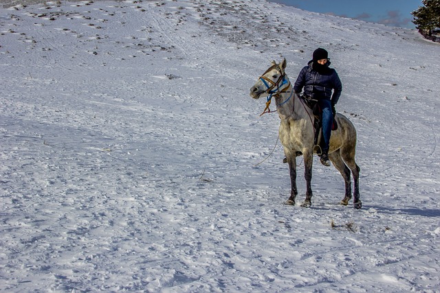
<svg viewBox="0 0 440 293"><path fill-rule="evenodd" d="M415 28L411 12L421 0L274 0L303 10L331 14L395 27Z"/></svg>

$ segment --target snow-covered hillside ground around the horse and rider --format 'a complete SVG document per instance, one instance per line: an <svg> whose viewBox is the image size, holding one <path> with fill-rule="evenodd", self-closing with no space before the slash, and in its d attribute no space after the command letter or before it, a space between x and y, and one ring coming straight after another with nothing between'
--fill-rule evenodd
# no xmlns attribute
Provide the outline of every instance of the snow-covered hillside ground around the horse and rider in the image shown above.
<svg viewBox="0 0 440 293"><path fill-rule="evenodd" d="M263 0L10 2L0 291L438 292L439 44ZM316 47L358 129L360 211L318 159L313 206L283 205L278 115L249 96Z"/></svg>

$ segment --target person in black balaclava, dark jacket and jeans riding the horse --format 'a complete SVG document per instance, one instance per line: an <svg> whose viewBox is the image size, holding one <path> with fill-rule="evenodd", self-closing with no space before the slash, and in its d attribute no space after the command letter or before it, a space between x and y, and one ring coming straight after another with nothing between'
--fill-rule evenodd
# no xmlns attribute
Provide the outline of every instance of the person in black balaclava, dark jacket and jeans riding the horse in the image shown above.
<svg viewBox="0 0 440 293"><path fill-rule="evenodd" d="M322 48L314 51L313 59L307 63L296 78L294 91L311 99L317 99L322 110L322 134L325 146L321 152L322 165L329 166L329 143L335 105L342 92L342 83L335 69L329 68L329 53ZM332 95L333 90L333 95Z"/></svg>

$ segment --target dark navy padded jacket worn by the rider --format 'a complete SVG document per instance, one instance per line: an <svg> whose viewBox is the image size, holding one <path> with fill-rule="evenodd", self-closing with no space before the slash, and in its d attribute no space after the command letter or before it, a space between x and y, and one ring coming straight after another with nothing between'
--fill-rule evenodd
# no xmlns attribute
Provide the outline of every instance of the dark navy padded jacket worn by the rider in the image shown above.
<svg viewBox="0 0 440 293"><path fill-rule="evenodd" d="M338 73L333 68L329 68L330 61L327 61L325 70L318 73L313 68L313 60L301 69L298 78L294 84L294 91L304 93L312 99L330 99L332 103L338 103L338 99L342 92L342 83ZM333 90L333 95L331 91Z"/></svg>

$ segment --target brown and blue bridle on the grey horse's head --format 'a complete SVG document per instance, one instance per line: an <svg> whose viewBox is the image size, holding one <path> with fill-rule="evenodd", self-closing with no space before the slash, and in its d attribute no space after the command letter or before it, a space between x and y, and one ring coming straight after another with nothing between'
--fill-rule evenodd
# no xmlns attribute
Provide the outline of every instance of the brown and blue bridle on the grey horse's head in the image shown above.
<svg viewBox="0 0 440 293"><path fill-rule="evenodd" d="M272 71L272 69L275 69L276 71L278 71L279 73L281 73L280 77L278 78L278 80L276 80L276 82L270 80L269 78L266 78L264 75L270 71ZM261 113L260 116L262 116L265 113L272 113L272 112L276 112L276 111L271 111L269 106L270 106L270 102L272 102L272 96L278 96L281 93L288 93L288 91L286 91L286 89L289 89L290 86L290 81L289 78L287 78L286 74L281 70L281 68L278 65L273 65L272 67L270 67L269 69L267 69L265 71L265 73L263 73L263 75L260 76L259 78L261 80L261 82L263 82L263 84L266 86L266 91L265 93L268 94L267 96L267 102L266 102L266 107L263 110L263 113ZM271 84L271 85L270 85ZM289 101L289 99L292 97L292 94L294 93L294 91L292 91L290 93L290 96L281 104L277 104L276 106L281 106L285 103L287 103L287 101Z"/></svg>

